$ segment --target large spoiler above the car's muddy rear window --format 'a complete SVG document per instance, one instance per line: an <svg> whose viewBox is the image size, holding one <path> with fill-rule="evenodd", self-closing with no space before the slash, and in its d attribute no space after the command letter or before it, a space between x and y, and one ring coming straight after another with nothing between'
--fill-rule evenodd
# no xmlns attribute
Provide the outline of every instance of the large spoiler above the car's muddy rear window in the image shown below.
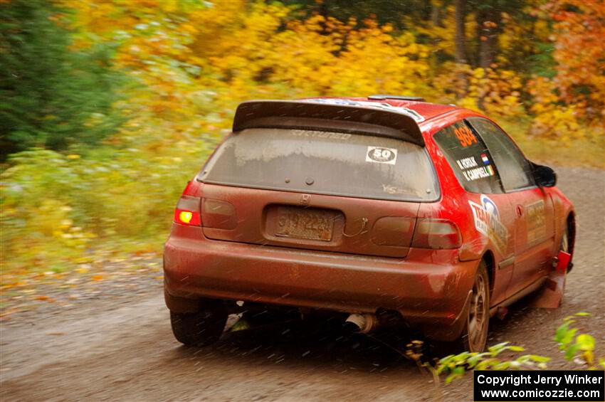
<svg viewBox="0 0 605 402"><path fill-rule="evenodd" d="M249 128L325 129L403 139L424 147L418 122L406 107L353 100L250 100L233 118L233 132Z"/></svg>

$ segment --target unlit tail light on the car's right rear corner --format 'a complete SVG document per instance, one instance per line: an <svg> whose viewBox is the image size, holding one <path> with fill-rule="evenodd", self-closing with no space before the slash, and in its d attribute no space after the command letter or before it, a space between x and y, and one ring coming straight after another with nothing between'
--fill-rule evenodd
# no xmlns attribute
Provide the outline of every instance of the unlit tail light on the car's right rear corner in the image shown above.
<svg viewBox="0 0 605 402"><path fill-rule="evenodd" d="M421 218L416 223L412 247L432 248L458 248L462 245L462 236L456 223L445 219Z"/></svg>

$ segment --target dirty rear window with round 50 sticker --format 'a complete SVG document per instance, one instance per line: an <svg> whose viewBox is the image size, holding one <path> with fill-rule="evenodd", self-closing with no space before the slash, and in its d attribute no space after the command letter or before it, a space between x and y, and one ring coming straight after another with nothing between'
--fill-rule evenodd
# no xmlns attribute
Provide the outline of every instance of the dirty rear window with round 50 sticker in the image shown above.
<svg viewBox="0 0 605 402"><path fill-rule="evenodd" d="M438 182L416 144L362 134L245 129L198 176L211 184L398 201L435 201Z"/></svg>

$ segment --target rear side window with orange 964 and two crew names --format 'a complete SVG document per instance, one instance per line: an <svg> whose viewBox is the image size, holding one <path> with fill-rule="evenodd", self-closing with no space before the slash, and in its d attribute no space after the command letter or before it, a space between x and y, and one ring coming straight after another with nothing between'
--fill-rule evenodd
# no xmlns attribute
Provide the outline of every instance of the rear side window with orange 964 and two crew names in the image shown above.
<svg viewBox="0 0 605 402"><path fill-rule="evenodd" d="M503 192L488 148L465 122L441 129L433 139L466 191L478 194Z"/></svg>

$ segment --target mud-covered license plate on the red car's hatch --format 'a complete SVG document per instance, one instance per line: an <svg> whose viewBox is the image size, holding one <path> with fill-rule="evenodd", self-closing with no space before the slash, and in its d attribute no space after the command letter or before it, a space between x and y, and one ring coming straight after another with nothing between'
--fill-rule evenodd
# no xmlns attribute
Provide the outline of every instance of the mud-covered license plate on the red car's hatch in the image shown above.
<svg viewBox="0 0 605 402"><path fill-rule="evenodd" d="M275 236L330 241L335 215L320 209L280 207Z"/></svg>

